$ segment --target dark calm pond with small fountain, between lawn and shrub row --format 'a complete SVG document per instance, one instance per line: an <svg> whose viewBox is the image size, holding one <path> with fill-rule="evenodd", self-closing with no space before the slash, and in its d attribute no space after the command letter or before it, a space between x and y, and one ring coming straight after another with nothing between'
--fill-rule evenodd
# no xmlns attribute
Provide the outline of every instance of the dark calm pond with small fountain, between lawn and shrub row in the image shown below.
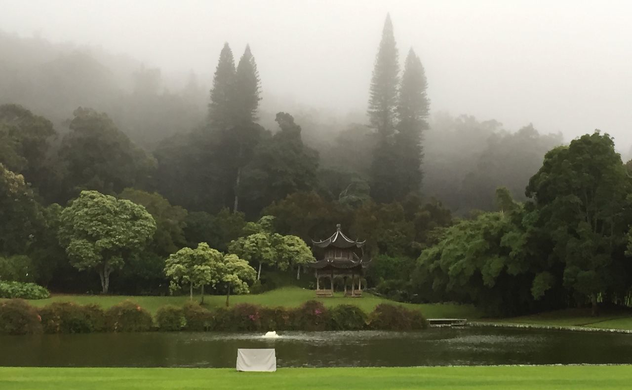
<svg viewBox="0 0 632 390"><path fill-rule="evenodd" d="M237 348L276 348L279 367L632 363L632 334L441 328L0 336L0 366L234 367Z"/></svg>

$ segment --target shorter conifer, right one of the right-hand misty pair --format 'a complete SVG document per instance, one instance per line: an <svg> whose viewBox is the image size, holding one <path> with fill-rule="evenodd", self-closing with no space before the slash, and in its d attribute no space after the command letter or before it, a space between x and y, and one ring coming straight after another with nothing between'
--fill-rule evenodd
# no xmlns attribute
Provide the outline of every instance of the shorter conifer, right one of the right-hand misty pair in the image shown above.
<svg viewBox="0 0 632 390"><path fill-rule="evenodd" d="M398 133L394 137L398 158L396 185L401 197L418 191L422 184L422 132L428 128L426 119L430 105L427 86L422 61L415 50L410 49L399 88Z"/></svg>

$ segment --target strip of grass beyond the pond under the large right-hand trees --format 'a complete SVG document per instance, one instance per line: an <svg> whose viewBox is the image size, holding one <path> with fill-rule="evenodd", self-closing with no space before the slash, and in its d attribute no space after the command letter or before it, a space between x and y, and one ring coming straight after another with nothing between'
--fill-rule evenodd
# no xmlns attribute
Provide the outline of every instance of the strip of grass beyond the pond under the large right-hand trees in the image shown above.
<svg viewBox="0 0 632 390"><path fill-rule="evenodd" d="M578 326L585 328L609 328L632 330L630 310L602 310L599 316L591 316L590 309L564 309L533 314L530 316L489 320L498 323L537 324L548 326Z"/></svg>

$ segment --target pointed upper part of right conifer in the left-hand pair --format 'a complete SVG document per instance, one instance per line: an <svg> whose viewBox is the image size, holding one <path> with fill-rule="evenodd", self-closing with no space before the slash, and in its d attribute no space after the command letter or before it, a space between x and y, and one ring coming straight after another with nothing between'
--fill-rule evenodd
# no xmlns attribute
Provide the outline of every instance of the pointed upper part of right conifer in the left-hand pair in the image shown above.
<svg viewBox="0 0 632 390"><path fill-rule="evenodd" d="M260 85L255 57L250 52L250 45L246 45L246 50L237 66L234 83L234 120L236 123L257 120L257 109L259 100L261 100Z"/></svg>

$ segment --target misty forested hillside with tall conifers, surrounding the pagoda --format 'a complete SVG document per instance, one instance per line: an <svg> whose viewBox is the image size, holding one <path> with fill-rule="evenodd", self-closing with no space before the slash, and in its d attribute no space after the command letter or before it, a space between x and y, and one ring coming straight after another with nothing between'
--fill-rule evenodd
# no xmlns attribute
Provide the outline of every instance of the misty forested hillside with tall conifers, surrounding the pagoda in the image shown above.
<svg viewBox="0 0 632 390"><path fill-rule="evenodd" d="M305 243L341 223L367 240L368 285L397 300L499 315L629 303L632 182L612 139L430 115L389 17L366 119L263 110L254 47L225 44L212 85L167 88L102 50L0 44L0 279L165 294L167 258L206 245L247 260L259 290L307 287ZM83 237L90 213L100 228Z"/></svg>

